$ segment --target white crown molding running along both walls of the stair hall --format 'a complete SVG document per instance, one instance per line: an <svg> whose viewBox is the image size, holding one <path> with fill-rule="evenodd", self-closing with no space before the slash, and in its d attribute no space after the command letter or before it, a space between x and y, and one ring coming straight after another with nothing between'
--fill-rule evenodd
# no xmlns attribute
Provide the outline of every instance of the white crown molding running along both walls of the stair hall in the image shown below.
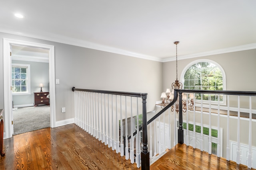
<svg viewBox="0 0 256 170"><path fill-rule="evenodd" d="M10 34L15 34L15 35L22 35L22 36L32 37L32 38L37 38L37 39L44 39L47 41L54 41L57 43L75 45L75 46L79 46L79 47L85 47L85 48L95 49L95 50L99 50L99 51L106 51L106 52L116 53L116 54L120 54L120 55L127 55L127 56L137 57L137 58L141 58L141 59L159 61L162 63L176 60L176 56L162 59L159 57L144 55L144 54L140 54L140 53L134 53L132 51L126 51L123 49L109 47L106 45L100 45L100 44L92 43L89 41L82 41L80 39L74 39L74 38L70 38L70 37L66 37L66 36L62 36L62 35L56 35L56 34L52 34L52 33L47 33L47 34L27 33L27 32L14 30L14 29L1 29L1 28L0 28L0 32L10 33ZM196 58L196 57L204 57L204 56L209 56L209 55L217 55L217 54L223 54L223 53L231 53L231 52L244 51L244 50L250 50L250 49L256 49L256 43L252 43L252 44L248 44L248 45L241 45L241 46L236 46L236 47L230 47L230 48L225 48L225 49L218 49L218 50L213 50L213 51L206 51L206 52L202 52L202 53L181 55L181 56L178 56L178 60L191 59L191 58Z"/></svg>

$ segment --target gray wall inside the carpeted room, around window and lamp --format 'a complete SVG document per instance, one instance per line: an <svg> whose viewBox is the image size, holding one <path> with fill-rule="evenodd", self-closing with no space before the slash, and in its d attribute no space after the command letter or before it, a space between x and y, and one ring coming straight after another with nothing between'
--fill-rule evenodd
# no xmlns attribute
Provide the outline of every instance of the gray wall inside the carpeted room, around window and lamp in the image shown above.
<svg viewBox="0 0 256 170"><path fill-rule="evenodd" d="M18 60L12 60L12 63L30 64L30 95L12 95L14 106L34 104L34 92L40 92L40 83L44 85L42 91L49 92L49 63Z"/></svg>

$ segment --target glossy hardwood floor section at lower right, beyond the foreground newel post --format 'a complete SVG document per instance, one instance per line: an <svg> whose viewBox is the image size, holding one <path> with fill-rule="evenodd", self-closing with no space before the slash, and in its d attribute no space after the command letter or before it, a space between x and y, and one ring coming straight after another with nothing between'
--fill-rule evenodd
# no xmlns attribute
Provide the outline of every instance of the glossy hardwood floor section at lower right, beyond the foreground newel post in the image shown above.
<svg viewBox="0 0 256 170"><path fill-rule="evenodd" d="M154 162L153 170L249 170L247 166L178 144ZM250 170L253 170L250 169Z"/></svg>

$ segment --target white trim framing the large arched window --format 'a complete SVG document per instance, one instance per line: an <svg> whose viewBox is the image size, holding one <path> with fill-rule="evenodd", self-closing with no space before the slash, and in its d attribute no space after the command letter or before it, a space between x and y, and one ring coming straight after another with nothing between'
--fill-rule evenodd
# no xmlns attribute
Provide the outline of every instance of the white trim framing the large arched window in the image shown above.
<svg viewBox="0 0 256 170"><path fill-rule="evenodd" d="M222 66L220 66L220 64L216 63L215 61L209 60L209 59L199 59L199 60L195 60L195 61L192 61L191 63L187 64L187 66L184 67L184 69L182 70L182 72L180 74L180 80L181 80L180 82L182 82L182 84L184 84L184 75L185 75L186 71L188 70L188 68L190 66L192 66L193 64L200 63L200 62L212 63L212 64L215 64L216 66L218 66L218 68L220 68L220 70L222 72L223 90L226 90L226 73L225 73L224 69L222 68ZM184 87L182 87L182 88L184 88ZM201 100L195 100L195 103L201 103ZM209 101L203 100L203 103L209 103ZM211 104L218 104L218 101L211 101ZM223 102L220 102L220 105L226 105L226 95L223 95Z"/></svg>

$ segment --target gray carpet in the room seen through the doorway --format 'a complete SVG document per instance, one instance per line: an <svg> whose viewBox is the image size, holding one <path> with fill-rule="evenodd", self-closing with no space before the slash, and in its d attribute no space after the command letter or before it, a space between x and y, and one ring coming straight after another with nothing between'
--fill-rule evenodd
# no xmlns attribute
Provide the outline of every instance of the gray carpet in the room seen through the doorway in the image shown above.
<svg viewBox="0 0 256 170"><path fill-rule="evenodd" d="M22 107L13 111L14 134L50 127L50 106Z"/></svg>

